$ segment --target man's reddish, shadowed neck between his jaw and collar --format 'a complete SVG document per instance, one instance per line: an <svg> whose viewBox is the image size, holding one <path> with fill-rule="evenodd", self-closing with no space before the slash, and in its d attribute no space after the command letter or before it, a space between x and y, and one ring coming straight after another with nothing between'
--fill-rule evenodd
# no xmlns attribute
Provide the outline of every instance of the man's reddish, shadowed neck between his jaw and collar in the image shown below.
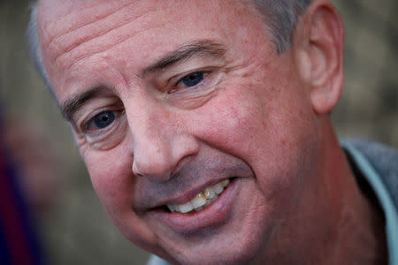
<svg viewBox="0 0 398 265"><path fill-rule="evenodd" d="M339 200L336 206L335 235L325 256L318 257L318 264L387 264L385 220L376 201L371 201L358 186L359 170L348 162L336 137L330 135L330 146L325 149L325 164L332 172L328 180ZM336 170L340 169L340 170ZM333 174L333 172L335 172ZM336 172L339 172L336 174ZM326 180L327 181L327 180ZM333 191L332 189L332 191ZM333 203L333 201L331 201ZM335 203L336 201L334 201Z"/></svg>

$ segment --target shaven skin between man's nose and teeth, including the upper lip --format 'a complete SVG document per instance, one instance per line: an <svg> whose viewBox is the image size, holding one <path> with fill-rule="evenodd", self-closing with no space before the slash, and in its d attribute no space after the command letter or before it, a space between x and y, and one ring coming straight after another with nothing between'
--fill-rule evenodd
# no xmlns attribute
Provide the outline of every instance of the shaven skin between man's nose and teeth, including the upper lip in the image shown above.
<svg viewBox="0 0 398 265"><path fill-rule="evenodd" d="M134 183L133 209L145 213L166 205L191 201L206 187L228 178L251 178L253 171L247 163L233 156L218 157L217 163L206 163L209 158L182 167L166 181L157 178L137 178ZM205 166L202 166L202 164Z"/></svg>

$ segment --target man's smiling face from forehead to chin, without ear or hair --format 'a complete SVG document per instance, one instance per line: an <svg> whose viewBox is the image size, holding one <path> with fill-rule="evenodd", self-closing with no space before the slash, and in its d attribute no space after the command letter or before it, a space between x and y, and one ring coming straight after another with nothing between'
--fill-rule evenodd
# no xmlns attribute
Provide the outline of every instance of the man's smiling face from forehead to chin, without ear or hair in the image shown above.
<svg viewBox="0 0 398 265"><path fill-rule="evenodd" d="M128 239L192 264L295 245L316 186L317 118L251 4L43 0L38 23L57 100ZM181 213L226 179L216 201Z"/></svg>

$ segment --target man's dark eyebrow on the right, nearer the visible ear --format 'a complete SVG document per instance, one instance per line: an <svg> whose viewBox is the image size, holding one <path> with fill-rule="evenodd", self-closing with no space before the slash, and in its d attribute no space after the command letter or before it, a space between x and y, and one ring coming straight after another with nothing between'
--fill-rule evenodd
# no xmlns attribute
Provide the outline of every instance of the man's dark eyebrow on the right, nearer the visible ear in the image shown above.
<svg viewBox="0 0 398 265"><path fill-rule="evenodd" d="M160 58L155 64L150 64L142 71L142 76L165 70L172 64L190 57L223 57L225 53L226 48L218 42L210 40L191 42L173 50L170 54Z"/></svg>

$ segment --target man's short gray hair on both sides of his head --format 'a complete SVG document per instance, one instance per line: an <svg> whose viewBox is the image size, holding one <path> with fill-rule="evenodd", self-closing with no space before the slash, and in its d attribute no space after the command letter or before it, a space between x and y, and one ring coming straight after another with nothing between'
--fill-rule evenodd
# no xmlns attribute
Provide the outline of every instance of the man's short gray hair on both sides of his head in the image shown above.
<svg viewBox="0 0 398 265"><path fill-rule="evenodd" d="M51 88L48 74L42 63L42 51L37 35L37 2L31 6L27 27L28 52L34 67L42 76L45 84ZM255 0L258 10L264 16L265 26L279 54L290 48L295 25L302 12L311 2L312 0ZM53 90L51 89L51 91Z"/></svg>

